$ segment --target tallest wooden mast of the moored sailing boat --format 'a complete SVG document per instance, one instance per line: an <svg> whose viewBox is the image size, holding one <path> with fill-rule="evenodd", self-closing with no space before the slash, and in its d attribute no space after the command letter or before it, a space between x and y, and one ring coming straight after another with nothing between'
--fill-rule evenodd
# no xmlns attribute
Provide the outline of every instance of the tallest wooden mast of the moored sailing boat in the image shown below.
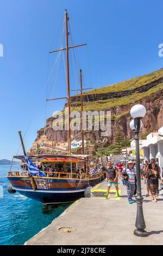
<svg viewBox="0 0 163 256"><path fill-rule="evenodd" d="M70 76L69 76L69 57L68 57L68 17L67 10L65 10L65 27L66 27L66 72L67 72L67 107L68 107L68 153L71 154L71 130L70 130Z"/></svg>

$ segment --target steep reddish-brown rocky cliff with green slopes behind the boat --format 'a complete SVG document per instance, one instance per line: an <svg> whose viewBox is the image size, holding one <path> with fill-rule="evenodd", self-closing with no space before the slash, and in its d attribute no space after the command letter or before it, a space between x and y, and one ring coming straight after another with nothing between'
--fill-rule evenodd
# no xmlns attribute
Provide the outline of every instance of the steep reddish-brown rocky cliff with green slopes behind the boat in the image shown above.
<svg viewBox="0 0 163 256"><path fill-rule="evenodd" d="M111 135L107 137L109 143L114 142L116 127L119 127L124 137L133 139L134 133L129 127L131 121L130 108L135 104L142 104L147 108L147 114L142 119L141 134L156 131L163 126L163 69L154 71L145 76L131 78L130 80L111 86L91 90L84 94L84 110L111 111ZM73 110L80 111L80 97L72 98ZM54 131L53 118L47 119L46 136L49 141L64 143L67 138L66 131ZM85 139L98 141L101 139L101 130L85 131ZM37 132L41 138L43 129ZM72 132L73 138L80 140L81 133Z"/></svg>

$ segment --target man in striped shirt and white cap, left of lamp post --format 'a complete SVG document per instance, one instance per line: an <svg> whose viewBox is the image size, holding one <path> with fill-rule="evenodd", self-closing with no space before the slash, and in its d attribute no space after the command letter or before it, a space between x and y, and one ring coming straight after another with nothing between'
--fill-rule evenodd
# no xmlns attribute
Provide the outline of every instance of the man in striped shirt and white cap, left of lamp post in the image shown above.
<svg viewBox="0 0 163 256"><path fill-rule="evenodd" d="M128 161L126 173L128 174L128 182L127 182L127 197L129 204L133 203L133 195L135 191L135 176L136 176L136 169L133 167L133 162Z"/></svg>

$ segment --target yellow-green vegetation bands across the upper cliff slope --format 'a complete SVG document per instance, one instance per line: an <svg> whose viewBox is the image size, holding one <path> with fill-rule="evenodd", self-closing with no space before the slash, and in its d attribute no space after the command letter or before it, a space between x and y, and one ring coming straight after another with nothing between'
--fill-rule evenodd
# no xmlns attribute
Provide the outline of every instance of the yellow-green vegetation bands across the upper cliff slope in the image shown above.
<svg viewBox="0 0 163 256"><path fill-rule="evenodd" d="M86 94L102 94L102 93L118 93L123 91L129 91L135 88L139 88L141 86L146 86L151 82L155 83L152 88L147 88L143 92L134 92L128 95L124 95L122 97L115 96L111 99L104 99L104 100L94 100L89 102L84 102L84 111L100 111L110 109L111 107L120 107L125 105L130 105L136 101L142 100L145 97L151 96L154 93L158 93L163 90L163 82L157 83L156 81L159 78L163 78L163 69L158 71L154 71L148 75L140 76L136 78L131 78L130 80L126 80L121 83L113 84L112 86L97 88L95 90L91 90ZM95 96L96 97L96 96ZM71 107L73 111L80 111L80 101L75 101L71 103ZM114 118L118 119L120 116L114 116Z"/></svg>

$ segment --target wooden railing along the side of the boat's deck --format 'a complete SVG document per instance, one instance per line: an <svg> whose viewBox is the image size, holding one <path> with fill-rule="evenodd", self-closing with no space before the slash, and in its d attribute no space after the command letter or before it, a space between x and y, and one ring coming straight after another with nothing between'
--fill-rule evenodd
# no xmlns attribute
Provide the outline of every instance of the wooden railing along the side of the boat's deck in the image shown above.
<svg viewBox="0 0 163 256"><path fill-rule="evenodd" d="M96 173L96 174L82 174L81 176L78 173L65 173L65 172L43 172L45 173L46 177L49 178L69 178L69 179L96 179L101 177L103 174L102 172ZM28 170L16 170L16 171L10 171L8 176L29 176ZM39 174L35 175L36 177L39 177Z"/></svg>

